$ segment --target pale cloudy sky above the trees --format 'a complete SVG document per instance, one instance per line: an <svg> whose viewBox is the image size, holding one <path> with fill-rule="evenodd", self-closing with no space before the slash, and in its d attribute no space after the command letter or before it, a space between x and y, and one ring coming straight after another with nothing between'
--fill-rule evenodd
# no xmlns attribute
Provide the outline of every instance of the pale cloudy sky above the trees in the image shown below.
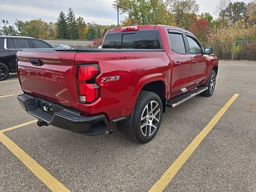
<svg viewBox="0 0 256 192"><path fill-rule="evenodd" d="M10 25L15 20L31 20L42 18L46 22L56 22L61 11L68 12L72 8L76 17L81 16L85 22L97 24L117 24L117 12L112 7L114 0L0 0L0 19L8 20ZM250 0L235 0L244 1ZM197 0L201 12L210 12L214 16L214 10L218 0ZM234 2L234 0L232 0ZM125 15L120 15L120 20Z"/></svg>

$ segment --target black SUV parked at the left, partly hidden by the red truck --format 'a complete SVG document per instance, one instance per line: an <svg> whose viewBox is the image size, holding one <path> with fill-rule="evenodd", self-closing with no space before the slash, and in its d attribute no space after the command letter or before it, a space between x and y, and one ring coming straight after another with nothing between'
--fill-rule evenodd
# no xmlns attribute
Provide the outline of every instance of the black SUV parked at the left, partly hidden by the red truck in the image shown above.
<svg viewBox="0 0 256 192"><path fill-rule="evenodd" d="M45 41L32 37L0 36L0 81L16 72L16 53L20 48L52 48Z"/></svg>

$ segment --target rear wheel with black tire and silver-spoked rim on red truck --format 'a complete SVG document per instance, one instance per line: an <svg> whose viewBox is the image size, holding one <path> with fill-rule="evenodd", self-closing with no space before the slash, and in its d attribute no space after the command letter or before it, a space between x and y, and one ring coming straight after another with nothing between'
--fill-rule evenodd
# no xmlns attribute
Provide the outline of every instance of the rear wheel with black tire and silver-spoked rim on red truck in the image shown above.
<svg viewBox="0 0 256 192"><path fill-rule="evenodd" d="M158 113L159 109L160 114ZM145 115L145 120L142 120ZM163 106L159 96L153 92L141 91L136 101L132 116L132 135L127 135L128 138L138 143L147 143L152 140L158 132L162 121L162 115ZM153 118L150 118L150 116ZM159 122L157 122L157 120ZM148 125L148 123L150 125ZM146 126L141 128L144 124L146 124Z"/></svg>

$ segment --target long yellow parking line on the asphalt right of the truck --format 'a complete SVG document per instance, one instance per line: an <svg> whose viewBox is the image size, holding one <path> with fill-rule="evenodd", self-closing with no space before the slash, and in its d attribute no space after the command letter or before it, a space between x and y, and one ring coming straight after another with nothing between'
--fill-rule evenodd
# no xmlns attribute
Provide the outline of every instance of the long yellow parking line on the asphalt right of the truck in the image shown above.
<svg viewBox="0 0 256 192"><path fill-rule="evenodd" d="M206 137L206 135L212 130L215 124L220 120L222 115L231 106L234 100L239 94L234 94L232 98L220 109L220 111L212 118L212 120L206 125L206 127L194 138L194 140L187 146L187 148L180 154L180 156L173 162L173 164L164 172L160 179L152 186L149 192L162 192L166 186L172 181L172 178L176 175L182 165L188 160L191 154L196 150L198 145Z"/></svg>

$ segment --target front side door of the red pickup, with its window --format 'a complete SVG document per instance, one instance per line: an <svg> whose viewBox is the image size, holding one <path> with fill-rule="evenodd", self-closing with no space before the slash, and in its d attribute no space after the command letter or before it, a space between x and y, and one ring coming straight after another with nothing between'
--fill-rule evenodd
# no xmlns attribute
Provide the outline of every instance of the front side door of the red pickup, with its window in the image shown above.
<svg viewBox="0 0 256 192"><path fill-rule="evenodd" d="M188 40L188 47L190 51L190 57L192 61L191 71L190 71L190 81L191 84L200 84L204 82L206 78L207 65L206 65L206 55L203 52L202 46L189 34L186 34Z"/></svg>

